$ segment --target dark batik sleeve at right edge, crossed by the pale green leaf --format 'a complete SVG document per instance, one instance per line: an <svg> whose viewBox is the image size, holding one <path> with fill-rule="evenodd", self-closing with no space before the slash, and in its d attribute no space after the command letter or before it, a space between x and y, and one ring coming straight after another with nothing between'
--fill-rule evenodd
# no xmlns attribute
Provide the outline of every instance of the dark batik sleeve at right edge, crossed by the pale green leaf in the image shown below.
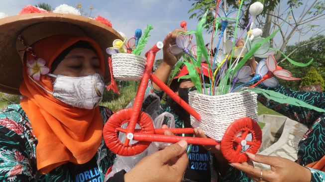
<svg viewBox="0 0 325 182"><path fill-rule="evenodd" d="M260 86L260 85L259 85ZM273 90L284 95L297 98L313 106L325 109L325 93L317 91L293 91L283 86L277 88L267 88L260 86L262 89ZM257 97L268 108L271 108L290 119L306 125L309 130L305 133L298 144L296 161L301 166L321 160L325 156L325 113L308 109L305 107L294 106L291 104L282 104L266 98L259 94ZM311 170L312 182L325 182L325 172Z"/></svg>

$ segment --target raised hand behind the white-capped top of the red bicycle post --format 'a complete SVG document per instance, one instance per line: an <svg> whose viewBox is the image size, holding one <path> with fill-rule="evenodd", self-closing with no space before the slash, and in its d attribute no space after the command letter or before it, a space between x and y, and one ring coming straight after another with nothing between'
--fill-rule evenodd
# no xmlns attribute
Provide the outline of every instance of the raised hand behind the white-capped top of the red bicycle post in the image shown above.
<svg viewBox="0 0 325 182"><path fill-rule="evenodd" d="M178 32L187 32L184 29L175 29L173 32L169 32L164 39L164 47L163 47L163 61L169 65L174 66L178 61L178 58L175 57L172 53L169 52L169 48L172 45L176 44L176 37L180 35Z"/></svg>

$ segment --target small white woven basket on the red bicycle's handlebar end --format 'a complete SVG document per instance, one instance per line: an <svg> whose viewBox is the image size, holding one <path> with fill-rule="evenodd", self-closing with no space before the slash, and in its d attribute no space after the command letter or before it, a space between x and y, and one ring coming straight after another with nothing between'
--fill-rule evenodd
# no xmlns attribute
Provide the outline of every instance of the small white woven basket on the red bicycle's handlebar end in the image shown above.
<svg viewBox="0 0 325 182"><path fill-rule="evenodd" d="M117 53L111 56L113 77L118 80L140 81L146 65L142 56Z"/></svg>

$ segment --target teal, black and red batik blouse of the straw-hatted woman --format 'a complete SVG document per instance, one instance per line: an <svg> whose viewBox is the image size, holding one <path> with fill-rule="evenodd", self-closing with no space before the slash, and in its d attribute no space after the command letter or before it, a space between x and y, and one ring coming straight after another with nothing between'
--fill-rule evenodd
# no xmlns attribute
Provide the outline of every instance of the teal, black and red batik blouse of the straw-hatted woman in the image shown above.
<svg viewBox="0 0 325 182"><path fill-rule="evenodd" d="M112 114L100 106L103 124ZM0 111L0 181L1 182L74 182L68 165L61 165L46 175L40 175L36 166L37 138L20 104L8 105ZM50 157L50 156L49 156ZM96 154L102 179L113 165L115 154L106 147L104 138Z"/></svg>

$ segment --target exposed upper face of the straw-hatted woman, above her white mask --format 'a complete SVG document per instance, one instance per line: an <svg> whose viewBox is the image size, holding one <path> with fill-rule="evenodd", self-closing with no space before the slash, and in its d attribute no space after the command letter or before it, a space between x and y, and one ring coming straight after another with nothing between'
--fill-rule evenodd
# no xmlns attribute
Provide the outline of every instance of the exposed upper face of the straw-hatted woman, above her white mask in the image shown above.
<svg viewBox="0 0 325 182"><path fill-rule="evenodd" d="M54 75L69 77L84 77L94 73L104 77L99 57L93 50L86 48L72 49L52 72Z"/></svg>

